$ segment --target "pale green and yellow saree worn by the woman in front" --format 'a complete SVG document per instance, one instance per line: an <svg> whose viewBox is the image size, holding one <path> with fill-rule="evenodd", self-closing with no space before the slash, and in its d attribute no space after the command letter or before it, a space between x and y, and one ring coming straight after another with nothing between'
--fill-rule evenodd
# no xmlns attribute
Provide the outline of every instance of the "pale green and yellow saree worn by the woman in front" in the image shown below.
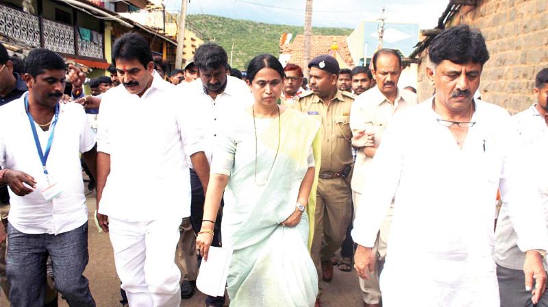
<svg viewBox="0 0 548 307"><path fill-rule="evenodd" d="M285 110L273 119L234 112L216 143L212 173L229 176L223 208L223 246L234 249L227 278L231 306L313 306L318 276L309 247L319 161L320 123ZM295 227L301 182L315 166L306 212Z"/></svg>

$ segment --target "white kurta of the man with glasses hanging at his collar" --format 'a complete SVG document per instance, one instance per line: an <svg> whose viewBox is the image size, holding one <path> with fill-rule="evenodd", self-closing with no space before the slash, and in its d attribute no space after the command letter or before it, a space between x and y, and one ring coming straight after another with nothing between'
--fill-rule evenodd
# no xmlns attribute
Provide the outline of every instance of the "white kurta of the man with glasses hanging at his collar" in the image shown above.
<svg viewBox="0 0 548 307"><path fill-rule="evenodd" d="M462 149L437 117L432 99L395 115L375 154L377 180L364 187L352 237L372 247L395 197L383 306L499 306L491 258L497 188L523 250L546 248L540 199L527 184L506 110L476 101L477 123Z"/></svg>

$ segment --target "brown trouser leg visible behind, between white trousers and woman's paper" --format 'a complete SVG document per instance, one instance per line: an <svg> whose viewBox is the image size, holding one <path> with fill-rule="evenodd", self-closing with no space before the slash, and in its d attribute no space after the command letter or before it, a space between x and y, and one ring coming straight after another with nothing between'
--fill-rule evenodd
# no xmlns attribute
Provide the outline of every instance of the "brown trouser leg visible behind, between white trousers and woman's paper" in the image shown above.
<svg viewBox="0 0 548 307"><path fill-rule="evenodd" d="M198 277L198 258L196 255L196 234L192 230L190 217L185 217L179 226L179 243L175 253L175 264L181 270L181 280L194 282Z"/></svg>

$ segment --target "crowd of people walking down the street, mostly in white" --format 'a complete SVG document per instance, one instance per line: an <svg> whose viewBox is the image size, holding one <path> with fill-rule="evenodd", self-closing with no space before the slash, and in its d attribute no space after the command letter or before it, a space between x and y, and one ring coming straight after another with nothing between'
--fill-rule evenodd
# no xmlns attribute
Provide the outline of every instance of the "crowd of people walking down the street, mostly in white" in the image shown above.
<svg viewBox="0 0 548 307"><path fill-rule="evenodd" d="M86 94L58 53L17 68L0 44L3 293L96 306L84 170L125 306L179 306L211 247L232 260L206 306L321 306L334 268L356 271L363 306L548 306L548 69L510 116L475 95L477 30L445 29L428 55L418 103L393 49L371 70L317 56L306 79L269 54L240 72L206 43L168 72L129 33Z"/></svg>

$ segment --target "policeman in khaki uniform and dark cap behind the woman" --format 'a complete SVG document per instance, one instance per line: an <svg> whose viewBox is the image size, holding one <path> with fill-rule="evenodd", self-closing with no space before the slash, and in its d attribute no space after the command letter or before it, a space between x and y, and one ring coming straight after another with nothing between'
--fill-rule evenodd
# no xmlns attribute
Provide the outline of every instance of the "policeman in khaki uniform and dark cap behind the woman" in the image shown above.
<svg viewBox="0 0 548 307"><path fill-rule="evenodd" d="M339 66L332 56L317 56L308 68L312 92L299 98L292 108L314 116L322 124L321 168L311 254L318 275L330 282L333 278L330 257L345 240L351 219L349 175L353 158L349 119L354 96L338 90ZM319 299L316 306L320 306Z"/></svg>

